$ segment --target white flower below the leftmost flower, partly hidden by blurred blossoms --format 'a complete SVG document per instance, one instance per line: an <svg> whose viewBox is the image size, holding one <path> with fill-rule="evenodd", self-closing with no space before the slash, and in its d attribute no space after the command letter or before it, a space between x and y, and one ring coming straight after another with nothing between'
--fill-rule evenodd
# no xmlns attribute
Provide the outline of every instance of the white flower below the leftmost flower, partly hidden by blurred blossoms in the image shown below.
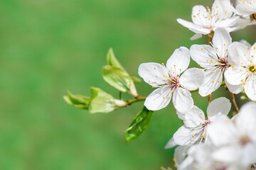
<svg viewBox="0 0 256 170"><path fill-rule="evenodd" d="M227 98L217 98L210 102L207 108L207 117L203 111L193 106L186 113L178 113L184 125L174 133L174 142L177 145L192 145L196 142L207 142L208 126L218 115L228 115L231 103Z"/></svg>

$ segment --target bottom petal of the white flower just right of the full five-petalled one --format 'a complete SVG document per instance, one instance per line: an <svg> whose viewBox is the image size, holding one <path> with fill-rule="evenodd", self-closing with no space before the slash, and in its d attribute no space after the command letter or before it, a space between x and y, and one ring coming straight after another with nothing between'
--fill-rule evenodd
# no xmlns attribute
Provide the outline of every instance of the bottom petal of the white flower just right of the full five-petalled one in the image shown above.
<svg viewBox="0 0 256 170"><path fill-rule="evenodd" d="M201 96L208 96L209 94L213 93L213 91L220 87L223 81L222 71L217 67L207 69L205 75L206 79L203 82L203 85L199 87L198 91Z"/></svg>

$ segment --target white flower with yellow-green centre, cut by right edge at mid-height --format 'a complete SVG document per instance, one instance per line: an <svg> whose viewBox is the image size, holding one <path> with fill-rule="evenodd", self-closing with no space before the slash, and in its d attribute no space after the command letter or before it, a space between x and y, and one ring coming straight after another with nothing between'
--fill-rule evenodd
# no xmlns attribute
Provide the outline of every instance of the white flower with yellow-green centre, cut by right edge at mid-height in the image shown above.
<svg viewBox="0 0 256 170"><path fill-rule="evenodd" d="M234 65L225 72L228 84L241 86L240 91L245 89L245 94L256 101L256 42L252 47L247 47L240 42L233 42L228 48L229 57ZM240 91L230 89L234 94Z"/></svg>

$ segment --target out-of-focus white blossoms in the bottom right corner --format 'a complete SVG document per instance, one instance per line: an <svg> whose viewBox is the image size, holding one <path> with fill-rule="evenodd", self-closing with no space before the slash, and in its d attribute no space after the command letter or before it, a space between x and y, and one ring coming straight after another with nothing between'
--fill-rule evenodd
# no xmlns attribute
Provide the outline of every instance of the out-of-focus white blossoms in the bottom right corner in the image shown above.
<svg viewBox="0 0 256 170"><path fill-rule="evenodd" d="M256 103L245 104L232 119L219 115L207 130L209 142L176 148L179 170L256 168Z"/></svg>

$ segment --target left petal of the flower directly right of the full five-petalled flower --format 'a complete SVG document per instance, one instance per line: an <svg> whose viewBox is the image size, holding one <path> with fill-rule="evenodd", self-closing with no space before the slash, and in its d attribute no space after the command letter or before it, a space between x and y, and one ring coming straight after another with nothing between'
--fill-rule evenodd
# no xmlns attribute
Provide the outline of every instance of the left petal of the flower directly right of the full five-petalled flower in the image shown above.
<svg viewBox="0 0 256 170"><path fill-rule="evenodd" d="M218 62L216 52L210 45L192 45L189 54L203 68L212 67L211 60Z"/></svg>

